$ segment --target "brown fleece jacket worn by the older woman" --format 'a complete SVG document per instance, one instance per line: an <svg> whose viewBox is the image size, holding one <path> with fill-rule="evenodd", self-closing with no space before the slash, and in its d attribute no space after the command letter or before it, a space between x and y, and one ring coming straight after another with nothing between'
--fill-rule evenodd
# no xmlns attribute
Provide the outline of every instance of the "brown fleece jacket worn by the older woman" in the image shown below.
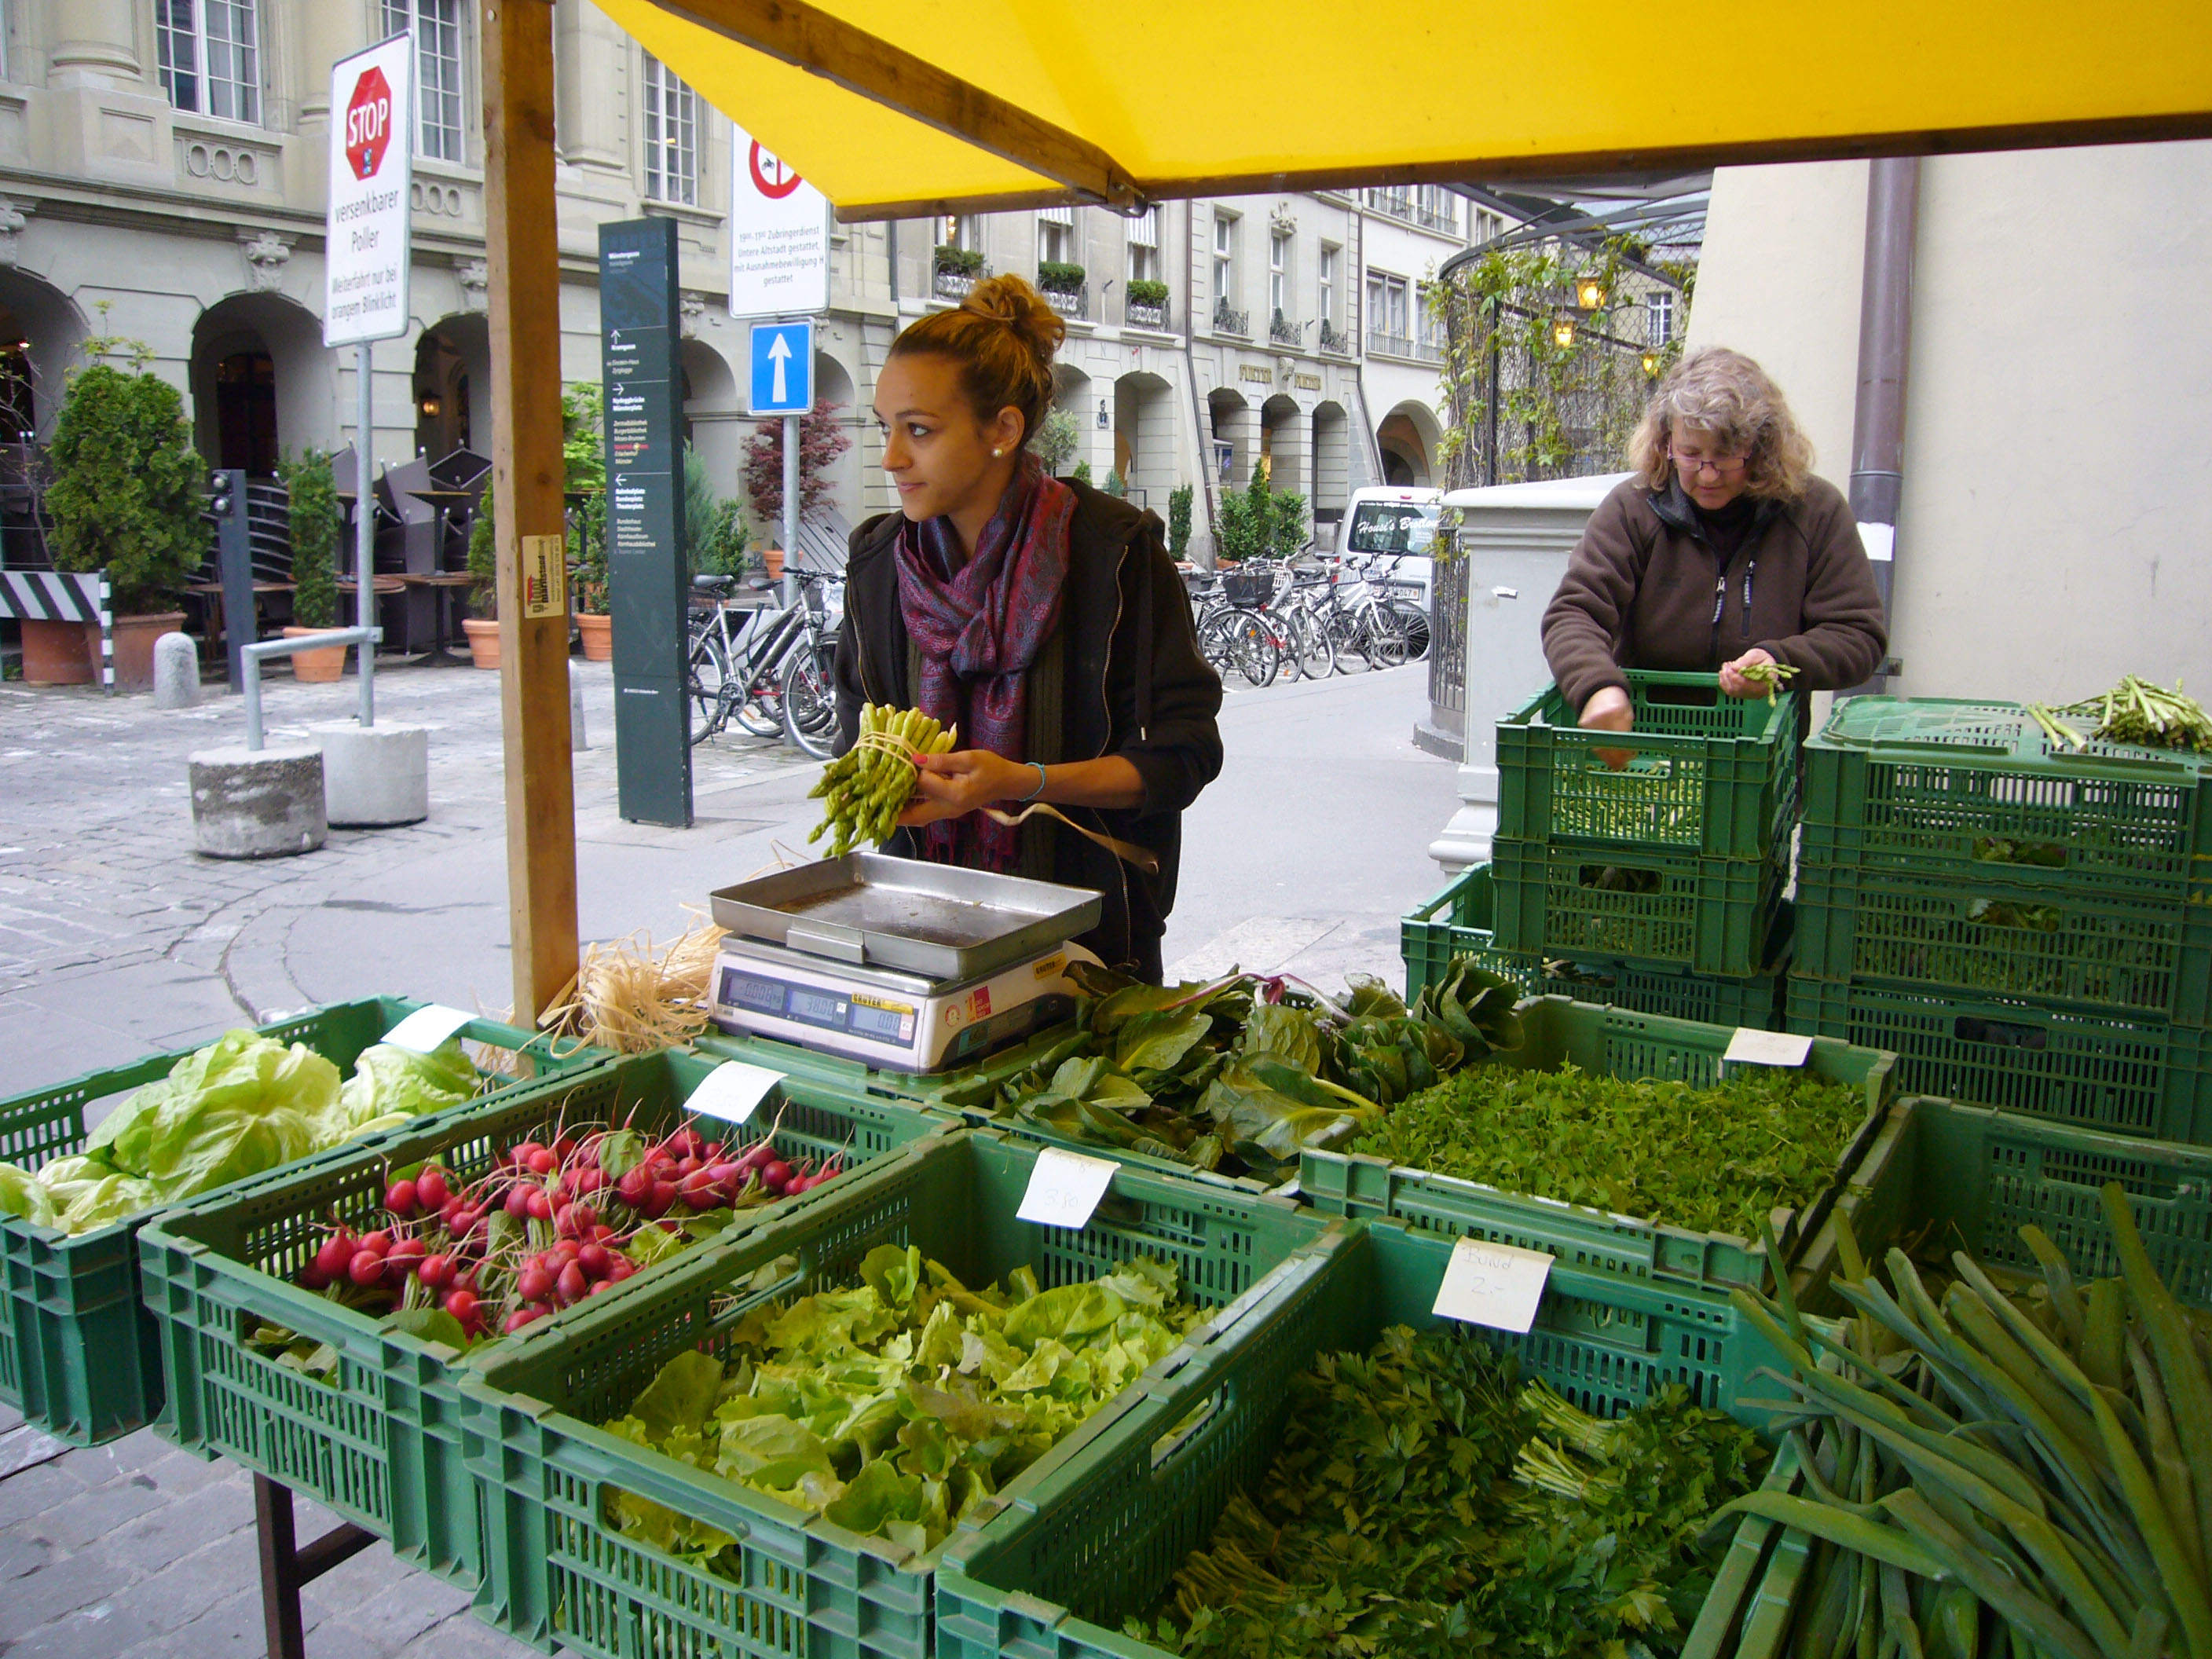
<svg viewBox="0 0 2212 1659"><path fill-rule="evenodd" d="M1882 661L1882 595L1843 493L1812 478L1761 500L1723 571L1681 484L1621 482L1590 515L1544 611L1544 659L1582 708L1624 668L1714 672L1752 646L1796 668L1794 690L1856 686Z"/></svg>

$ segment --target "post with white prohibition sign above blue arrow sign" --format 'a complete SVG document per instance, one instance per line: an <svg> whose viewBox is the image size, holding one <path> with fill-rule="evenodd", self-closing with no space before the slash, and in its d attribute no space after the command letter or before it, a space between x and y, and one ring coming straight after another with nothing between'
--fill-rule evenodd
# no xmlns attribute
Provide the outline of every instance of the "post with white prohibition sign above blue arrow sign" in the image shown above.
<svg viewBox="0 0 2212 1659"><path fill-rule="evenodd" d="M730 316L830 310L830 199L774 150L730 131ZM763 338L765 334L765 338ZM799 580L799 418L814 407L814 325L752 330L752 414L783 416L783 597Z"/></svg>

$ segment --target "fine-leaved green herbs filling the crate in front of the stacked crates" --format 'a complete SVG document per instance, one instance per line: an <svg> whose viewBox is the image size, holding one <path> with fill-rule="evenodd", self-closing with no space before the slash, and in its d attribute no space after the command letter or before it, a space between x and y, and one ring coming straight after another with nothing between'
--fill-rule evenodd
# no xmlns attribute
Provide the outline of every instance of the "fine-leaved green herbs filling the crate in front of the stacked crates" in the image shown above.
<svg viewBox="0 0 2212 1659"><path fill-rule="evenodd" d="M1402 1102L1352 1150L1756 1239L1776 1208L1803 1208L1836 1179L1865 1117L1858 1091L1778 1066L1741 1066L1712 1088L1469 1066Z"/></svg>

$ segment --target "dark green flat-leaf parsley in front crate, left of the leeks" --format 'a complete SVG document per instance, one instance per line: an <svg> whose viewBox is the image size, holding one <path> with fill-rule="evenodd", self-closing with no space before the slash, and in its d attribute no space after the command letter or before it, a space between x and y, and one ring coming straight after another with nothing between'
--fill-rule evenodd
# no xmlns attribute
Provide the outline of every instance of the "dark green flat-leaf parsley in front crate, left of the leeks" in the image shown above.
<svg viewBox="0 0 2212 1659"><path fill-rule="evenodd" d="M1190 1659L1672 1652L1750 1429L1670 1389L1615 1422L1464 1332L1394 1327L1298 1378L1281 1455L1126 1632Z"/></svg>

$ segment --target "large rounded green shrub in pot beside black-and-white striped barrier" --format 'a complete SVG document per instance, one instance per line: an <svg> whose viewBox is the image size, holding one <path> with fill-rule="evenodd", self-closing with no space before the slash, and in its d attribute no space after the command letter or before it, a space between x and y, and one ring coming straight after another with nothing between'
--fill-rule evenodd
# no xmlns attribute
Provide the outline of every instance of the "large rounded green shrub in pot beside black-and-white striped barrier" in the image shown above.
<svg viewBox="0 0 2212 1659"><path fill-rule="evenodd" d="M192 449L184 398L157 374L95 363L62 398L49 460L53 568L108 573L115 684L144 690L153 686L153 641L184 626L173 606L208 549L208 469Z"/></svg>

